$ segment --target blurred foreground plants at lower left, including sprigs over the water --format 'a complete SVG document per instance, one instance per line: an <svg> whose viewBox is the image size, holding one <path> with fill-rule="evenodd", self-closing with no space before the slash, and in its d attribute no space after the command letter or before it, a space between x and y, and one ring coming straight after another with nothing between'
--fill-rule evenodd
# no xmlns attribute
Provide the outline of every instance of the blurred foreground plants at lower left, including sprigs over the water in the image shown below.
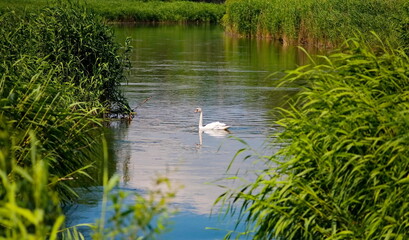
<svg viewBox="0 0 409 240"><path fill-rule="evenodd" d="M42 158L41 144L30 131L29 155L31 166L19 166L15 159L12 128L0 119L0 237L2 239L83 239L77 226L64 228L57 192L52 188L48 161ZM104 141L102 141L104 142ZM104 145L107 162L107 146ZM118 239L126 236L137 239L154 239L166 230L169 214L168 202L174 191L168 179L157 181L161 190L150 191L144 197L137 193L115 192L118 178L108 180L107 166L104 167L104 195L102 213L95 223L82 224L93 232L92 239ZM162 185L165 185L163 187ZM133 204L124 202L125 197ZM107 199L112 199L108 207ZM113 212L111 217L108 214ZM104 225L109 223L110 225Z"/></svg>

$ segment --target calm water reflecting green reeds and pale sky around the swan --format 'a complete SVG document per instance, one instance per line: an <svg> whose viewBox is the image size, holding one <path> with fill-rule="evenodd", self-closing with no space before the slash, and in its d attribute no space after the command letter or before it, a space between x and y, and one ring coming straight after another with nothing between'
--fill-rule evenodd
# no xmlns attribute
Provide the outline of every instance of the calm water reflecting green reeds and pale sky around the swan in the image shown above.
<svg viewBox="0 0 409 240"><path fill-rule="evenodd" d="M213 203L224 192L216 180L229 176L226 168L245 147L264 154L274 133L270 113L296 89L276 88L273 72L293 69L306 61L294 47L267 40L235 39L213 25L116 26L118 41L132 38L133 68L124 91L137 116L130 123L113 123L114 171L121 188L146 191L156 176L169 177L177 192L172 231L161 239L222 239L234 219L210 216ZM280 75L280 74L279 74ZM198 132L201 107L204 124L231 126L227 132ZM231 173L251 179L260 169L255 159L238 157ZM84 204L69 211L72 224L98 217L101 196L96 190ZM217 211L217 206L213 208ZM217 228L220 230L209 230Z"/></svg>

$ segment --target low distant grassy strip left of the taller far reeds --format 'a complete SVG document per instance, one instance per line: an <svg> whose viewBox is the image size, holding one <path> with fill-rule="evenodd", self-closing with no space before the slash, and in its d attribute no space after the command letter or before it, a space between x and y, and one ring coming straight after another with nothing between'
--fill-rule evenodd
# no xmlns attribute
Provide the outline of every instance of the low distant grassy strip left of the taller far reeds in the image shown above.
<svg viewBox="0 0 409 240"><path fill-rule="evenodd" d="M224 4L161 0L84 0L89 10L110 22L213 22L225 13ZM1 9L35 9L48 5L45 0L6 0Z"/></svg>

